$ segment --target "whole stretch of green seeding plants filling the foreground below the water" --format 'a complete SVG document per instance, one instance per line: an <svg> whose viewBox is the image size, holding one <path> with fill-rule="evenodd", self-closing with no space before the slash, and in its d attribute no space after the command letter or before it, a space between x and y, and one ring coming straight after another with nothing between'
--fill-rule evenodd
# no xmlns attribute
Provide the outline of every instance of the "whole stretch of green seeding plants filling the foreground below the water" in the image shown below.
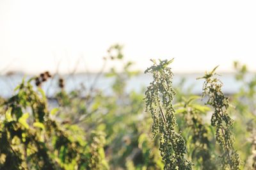
<svg viewBox="0 0 256 170"><path fill-rule="evenodd" d="M0 98L0 169L256 169L256 74L248 79L245 65L234 62L243 86L227 96L218 67L195 79L204 81L195 95L173 86L175 60L152 59L152 82L127 92L138 72L122 47L110 47L104 61L123 65L95 76L115 79L111 94L67 92L65 79L44 72ZM56 76L51 108L42 86Z"/></svg>

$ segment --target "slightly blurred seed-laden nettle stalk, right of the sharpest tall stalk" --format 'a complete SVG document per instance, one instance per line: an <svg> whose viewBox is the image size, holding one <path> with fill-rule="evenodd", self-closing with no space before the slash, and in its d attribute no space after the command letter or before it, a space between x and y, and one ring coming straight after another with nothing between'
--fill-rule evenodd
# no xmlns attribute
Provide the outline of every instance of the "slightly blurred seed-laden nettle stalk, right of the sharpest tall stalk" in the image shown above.
<svg viewBox="0 0 256 170"><path fill-rule="evenodd" d="M203 87L203 97L208 97L207 103L211 105L214 112L211 117L211 125L216 127L216 141L221 148L221 169L239 169L240 158L234 150L234 135L232 126L234 121L228 115L229 101L221 91L222 83L216 78L215 67L211 72L206 72Z"/></svg>

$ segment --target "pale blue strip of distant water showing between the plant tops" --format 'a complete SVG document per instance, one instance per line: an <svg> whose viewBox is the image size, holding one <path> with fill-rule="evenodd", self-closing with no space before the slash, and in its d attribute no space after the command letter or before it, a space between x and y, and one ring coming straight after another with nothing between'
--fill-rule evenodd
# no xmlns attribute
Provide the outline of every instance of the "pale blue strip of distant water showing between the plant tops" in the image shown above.
<svg viewBox="0 0 256 170"><path fill-rule="evenodd" d="M191 93L200 94L202 93L203 80L196 80L197 77L202 77L203 73L186 73L186 74L175 74L173 77L173 86L179 86L180 81L185 79L184 89L191 88ZM1 97L10 97L13 95L13 89L22 81L24 75L14 74L14 75L0 75L0 96ZM26 79L29 79L31 76L26 76ZM72 91L73 89L81 88L81 84L85 89L89 89L95 81L95 74L75 74L75 75L65 75L65 89L67 91ZM252 74L247 75L249 79L252 77ZM238 83L234 77L233 73L223 73L220 76L221 81L223 82L223 91L224 93L236 93L241 87L241 83ZM94 88L102 89L104 93L111 93L111 84L113 84L113 78L104 77L101 75L95 83ZM126 91L142 91L143 88L147 87L148 84L152 81L151 75L143 74L136 77L132 77L127 81ZM34 82L33 82L34 83ZM43 84L42 88L45 90L47 97L52 97L56 91L59 91L58 88L58 77L51 79Z"/></svg>

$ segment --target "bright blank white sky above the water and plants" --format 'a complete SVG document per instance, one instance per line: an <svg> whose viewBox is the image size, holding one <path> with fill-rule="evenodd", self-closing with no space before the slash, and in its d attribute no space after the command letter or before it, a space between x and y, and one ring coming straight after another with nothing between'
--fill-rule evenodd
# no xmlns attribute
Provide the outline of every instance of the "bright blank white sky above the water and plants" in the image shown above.
<svg viewBox="0 0 256 170"><path fill-rule="evenodd" d="M113 43L145 70L175 58L175 72L232 61L256 67L256 1L0 1L0 72L97 71ZM79 60L80 58L80 60ZM81 59L83 58L83 59ZM6 69L7 68L7 69Z"/></svg>

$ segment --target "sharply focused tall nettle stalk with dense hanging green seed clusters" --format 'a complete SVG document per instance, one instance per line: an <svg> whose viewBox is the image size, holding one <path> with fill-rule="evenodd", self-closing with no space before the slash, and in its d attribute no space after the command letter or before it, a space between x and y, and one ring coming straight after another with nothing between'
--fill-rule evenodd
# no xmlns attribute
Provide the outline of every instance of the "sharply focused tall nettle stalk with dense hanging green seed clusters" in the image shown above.
<svg viewBox="0 0 256 170"><path fill-rule="evenodd" d="M172 105L175 92L172 88L173 73L168 67L173 60L152 60L154 63L145 73L152 73L153 81L145 92L146 111L152 116L152 133L160 135L161 156L164 169L191 169L192 163L186 160L186 142L181 132L175 132L176 119Z"/></svg>

